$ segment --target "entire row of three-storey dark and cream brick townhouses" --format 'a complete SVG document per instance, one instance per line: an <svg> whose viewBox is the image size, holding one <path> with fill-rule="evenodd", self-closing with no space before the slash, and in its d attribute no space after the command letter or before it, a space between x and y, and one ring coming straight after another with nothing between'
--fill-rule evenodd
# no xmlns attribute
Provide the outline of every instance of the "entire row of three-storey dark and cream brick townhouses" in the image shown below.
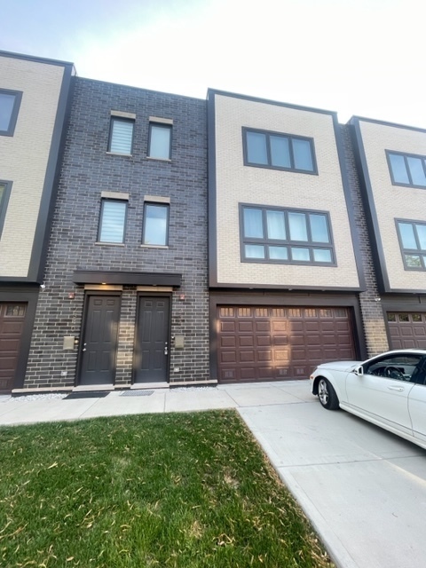
<svg viewBox="0 0 426 568"><path fill-rule="evenodd" d="M0 390L304 379L426 347L425 130L0 66Z"/></svg>

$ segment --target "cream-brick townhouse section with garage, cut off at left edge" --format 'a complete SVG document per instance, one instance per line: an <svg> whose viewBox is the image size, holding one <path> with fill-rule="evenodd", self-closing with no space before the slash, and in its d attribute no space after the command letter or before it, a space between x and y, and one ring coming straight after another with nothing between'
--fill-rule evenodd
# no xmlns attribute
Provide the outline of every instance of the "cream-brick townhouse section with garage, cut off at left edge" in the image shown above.
<svg viewBox="0 0 426 568"><path fill-rule="evenodd" d="M24 385L73 75L0 51L0 392Z"/></svg>

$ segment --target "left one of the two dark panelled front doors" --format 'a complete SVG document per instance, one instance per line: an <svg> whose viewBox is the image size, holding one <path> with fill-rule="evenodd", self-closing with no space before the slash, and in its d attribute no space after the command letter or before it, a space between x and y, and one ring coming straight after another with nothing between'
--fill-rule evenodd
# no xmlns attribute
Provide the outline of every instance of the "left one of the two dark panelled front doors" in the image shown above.
<svg viewBox="0 0 426 568"><path fill-rule="evenodd" d="M81 385L113 384L120 296L89 295L81 344Z"/></svg>

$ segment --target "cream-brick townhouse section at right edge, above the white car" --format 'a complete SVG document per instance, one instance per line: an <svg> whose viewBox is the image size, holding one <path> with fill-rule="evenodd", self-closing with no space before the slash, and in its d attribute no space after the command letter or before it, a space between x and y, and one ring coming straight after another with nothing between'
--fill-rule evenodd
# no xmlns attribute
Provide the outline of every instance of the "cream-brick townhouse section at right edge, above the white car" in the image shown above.
<svg viewBox="0 0 426 568"><path fill-rule="evenodd" d="M384 343L424 349L426 130L361 117L350 128Z"/></svg>

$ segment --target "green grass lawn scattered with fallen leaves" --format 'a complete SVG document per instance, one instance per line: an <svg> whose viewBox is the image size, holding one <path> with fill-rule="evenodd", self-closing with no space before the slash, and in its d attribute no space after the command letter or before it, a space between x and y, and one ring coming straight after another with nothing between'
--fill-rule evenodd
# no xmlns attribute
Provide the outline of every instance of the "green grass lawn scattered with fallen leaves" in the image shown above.
<svg viewBox="0 0 426 568"><path fill-rule="evenodd" d="M0 429L0 565L330 567L234 411Z"/></svg>

